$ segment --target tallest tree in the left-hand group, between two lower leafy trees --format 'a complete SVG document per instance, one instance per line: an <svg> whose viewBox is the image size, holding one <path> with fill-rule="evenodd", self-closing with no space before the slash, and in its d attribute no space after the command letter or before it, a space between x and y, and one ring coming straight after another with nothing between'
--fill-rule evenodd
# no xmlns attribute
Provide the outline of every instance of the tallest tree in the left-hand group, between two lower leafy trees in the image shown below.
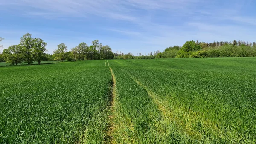
<svg viewBox="0 0 256 144"><path fill-rule="evenodd" d="M35 47L35 40L32 38L32 35L26 33L20 39L20 46L23 56L25 57L25 62L28 64L33 63L33 55L34 47Z"/></svg>

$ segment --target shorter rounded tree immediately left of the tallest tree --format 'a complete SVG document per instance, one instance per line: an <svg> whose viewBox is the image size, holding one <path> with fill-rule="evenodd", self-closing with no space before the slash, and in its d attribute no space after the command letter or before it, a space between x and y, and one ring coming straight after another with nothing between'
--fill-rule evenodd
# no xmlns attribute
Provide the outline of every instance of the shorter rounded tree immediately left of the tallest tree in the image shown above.
<svg viewBox="0 0 256 144"><path fill-rule="evenodd" d="M3 57L6 63L10 63L11 65L18 65L21 63L23 59L23 55L21 54L21 46L20 45L13 45L9 46L8 49L3 50Z"/></svg>

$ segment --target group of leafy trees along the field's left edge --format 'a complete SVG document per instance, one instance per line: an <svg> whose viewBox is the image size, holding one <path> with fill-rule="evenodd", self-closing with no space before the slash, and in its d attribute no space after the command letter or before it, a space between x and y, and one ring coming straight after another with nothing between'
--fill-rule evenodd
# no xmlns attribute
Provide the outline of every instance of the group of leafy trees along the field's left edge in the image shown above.
<svg viewBox="0 0 256 144"><path fill-rule="evenodd" d="M3 38L0 38L0 42ZM113 59L114 53L110 46L102 45L99 40L92 41L92 45L88 46L86 43L80 43L78 46L67 51L67 46L61 43L57 46L57 49L53 54L47 54L47 43L41 38L33 38L31 34L26 33L20 39L18 45L9 46L7 49L3 49L3 53L0 53L0 62L10 63L11 65L18 65L23 61L27 64L37 62L41 64L41 61L47 60L99 60L99 59ZM0 45L0 48L3 47Z"/></svg>

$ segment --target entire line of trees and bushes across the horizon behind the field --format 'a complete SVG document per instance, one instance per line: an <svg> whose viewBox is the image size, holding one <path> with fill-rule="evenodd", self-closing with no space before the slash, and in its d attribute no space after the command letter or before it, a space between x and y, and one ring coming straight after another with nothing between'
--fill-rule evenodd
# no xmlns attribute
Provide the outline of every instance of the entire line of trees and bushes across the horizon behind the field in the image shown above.
<svg viewBox="0 0 256 144"><path fill-rule="evenodd" d="M0 38L0 42L4 40ZM187 41L183 46L170 46L163 52L159 50L150 52L148 55L137 53L124 54L121 51L113 53L110 46L102 45L99 40L92 41L88 46L86 43L80 43L78 46L67 51L67 46L61 43L53 54L47 54L47 43L40 38L32 38L32 35L26 33L21 37L20 44L9 46L0 53L0 62L17 65L22 61L32 64L36 61L53 60L99 60L99 59L154 59L154 58L204 58L204 57L254 57L256 56L256 42L245 42L242 40L220 41L220 42L198 42ZM0 45L0 48L2 46Z"/></svg>

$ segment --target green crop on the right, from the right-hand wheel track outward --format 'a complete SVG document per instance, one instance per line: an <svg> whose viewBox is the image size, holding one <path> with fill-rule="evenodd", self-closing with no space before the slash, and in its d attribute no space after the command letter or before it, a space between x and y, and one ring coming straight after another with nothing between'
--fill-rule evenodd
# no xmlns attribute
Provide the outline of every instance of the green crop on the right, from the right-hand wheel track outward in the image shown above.
<svg viewBox="0 0 256 144"><path fill-rule="evenodd" d="M151 91L155 102L168 109L166 117L171 115L169 121L174 123L167 129L175 127L172 133L183 133L178 143L256 142L256 58L109 63L113 71L123 69L122 75L131 75ZM117 87L120 85L125 84ZM168 143L165 136L166 141L161 143Z"/></svg>

